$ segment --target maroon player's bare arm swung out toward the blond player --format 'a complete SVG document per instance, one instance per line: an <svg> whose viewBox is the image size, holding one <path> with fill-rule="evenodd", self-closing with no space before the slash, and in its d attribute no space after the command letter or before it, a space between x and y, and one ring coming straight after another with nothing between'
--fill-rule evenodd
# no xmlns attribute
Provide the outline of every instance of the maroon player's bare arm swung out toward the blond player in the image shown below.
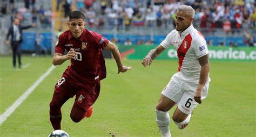
<svg viewBox="0 0 256 137"><path fill-rule="evenodd" d="M123 66L118 47L114 45L111 41L109 41L109 44L104 49L110 50L112 52L114 60L116 60L117 62L118 74L120 72L125 73L127 70L131 69L131 66L129 67Z"/></svg>

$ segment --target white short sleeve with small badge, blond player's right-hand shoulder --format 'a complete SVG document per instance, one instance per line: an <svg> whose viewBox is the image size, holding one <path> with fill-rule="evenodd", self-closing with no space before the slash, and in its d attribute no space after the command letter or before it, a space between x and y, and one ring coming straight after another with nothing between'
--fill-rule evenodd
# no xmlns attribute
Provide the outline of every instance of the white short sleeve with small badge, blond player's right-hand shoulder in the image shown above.
<svg viewBox="0 0 256 137"><path fill-rule="evenodd" d="M206 41L201 36L192 40L192 48L194 49L194 52L198 58L209 53Z"/></svg>

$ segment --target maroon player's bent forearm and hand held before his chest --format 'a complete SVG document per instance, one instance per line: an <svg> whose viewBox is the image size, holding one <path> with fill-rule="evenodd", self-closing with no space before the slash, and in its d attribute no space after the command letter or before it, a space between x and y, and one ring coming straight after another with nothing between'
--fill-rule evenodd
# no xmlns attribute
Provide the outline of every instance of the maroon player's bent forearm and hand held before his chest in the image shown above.
<svg viewBox="0 0 256 137"><path fill-rule="evenodd" d="M66 60L75 59L76 52L73 48L70 48L68 54L63 55L62 53L55 53L52 58L52 64L53 65L60 65Z"/></svg>

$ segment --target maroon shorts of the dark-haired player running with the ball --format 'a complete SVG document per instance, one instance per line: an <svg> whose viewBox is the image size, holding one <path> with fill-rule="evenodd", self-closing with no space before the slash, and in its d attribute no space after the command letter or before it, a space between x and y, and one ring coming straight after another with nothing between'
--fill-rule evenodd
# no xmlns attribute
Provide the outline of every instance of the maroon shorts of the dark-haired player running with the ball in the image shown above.
<svg viewBox="0 0 256 137"><path fill-rule="evenodd" d="M93 84L83 84L83 86L76 85L76 82L73 81L72 84L70 84L69 81L71 81L70 77L62 77L55 85L54 92L70 98L76 95L75 103L87 111L87 109L96 102L99 96L100 81Z"/></svg>

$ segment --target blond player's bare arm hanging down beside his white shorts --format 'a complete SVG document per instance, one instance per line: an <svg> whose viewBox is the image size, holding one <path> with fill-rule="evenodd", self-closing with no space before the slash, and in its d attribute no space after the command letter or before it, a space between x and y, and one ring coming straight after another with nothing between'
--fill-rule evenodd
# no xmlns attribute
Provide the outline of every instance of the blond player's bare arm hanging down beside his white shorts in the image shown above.
<svg viewBox="0 0 256 137"><path fill-rule="evenodd" d="M204 85L207 81L207 78L208 78L208 74L209 74L209 70L210 70L210 62L209 62L209 55L206 54L202 57L199 57L199 63L200 63L200 66L201 66L201 71L200 71L200 79L199 79L199 83L197 85L197 90L196 90L196 93L194 95L194 100L197 102L197 103L201 103L201 95L202 95L202 92L203 92L203 88L204 88Z"/></svg>

